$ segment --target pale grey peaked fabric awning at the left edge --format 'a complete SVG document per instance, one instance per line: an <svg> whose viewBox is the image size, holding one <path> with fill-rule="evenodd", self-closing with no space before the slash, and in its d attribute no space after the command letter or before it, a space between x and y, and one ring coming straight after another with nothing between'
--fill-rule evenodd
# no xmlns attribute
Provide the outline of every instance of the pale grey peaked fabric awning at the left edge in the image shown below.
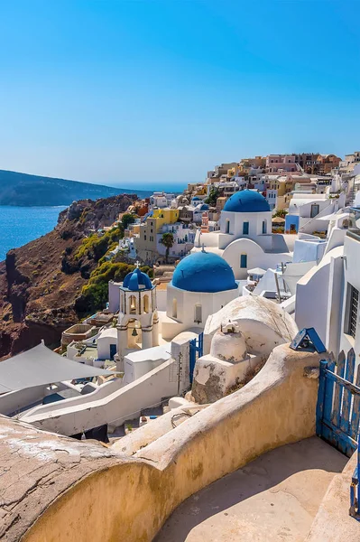
<svg viewBox="0 0 360 542"><path fill-rule="evenodd" d="M63 358L42 342L31 350L0 363L0 394L65 380L110 374L116 373Z"/></svg>

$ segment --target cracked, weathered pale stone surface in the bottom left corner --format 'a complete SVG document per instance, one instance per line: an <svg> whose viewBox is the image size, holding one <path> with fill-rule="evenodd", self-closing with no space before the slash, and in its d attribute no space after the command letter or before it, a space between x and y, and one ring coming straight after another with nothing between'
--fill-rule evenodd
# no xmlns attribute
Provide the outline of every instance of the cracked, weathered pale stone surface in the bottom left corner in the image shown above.
<svg viewBox="0 0 360 542"><path fill-rule="evenodd" d="M19 540L53 500L94 469L118 463L102 444L0 416L0 539Z"/></svg>

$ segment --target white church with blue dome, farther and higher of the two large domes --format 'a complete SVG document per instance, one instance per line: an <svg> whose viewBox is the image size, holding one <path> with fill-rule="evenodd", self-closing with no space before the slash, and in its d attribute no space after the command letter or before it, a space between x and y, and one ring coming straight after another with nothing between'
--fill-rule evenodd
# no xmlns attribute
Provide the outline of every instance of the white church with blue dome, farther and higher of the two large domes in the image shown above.
<svg viewBox="0 0 360 542"><path fill-rule="evenodd" d="M221 211L219 225L219 231L197 233L192 253L205 246L226 260L236 280L245 280L248 269L292 261L292 248L283 235L272 233L272 210L256 190L235 192Z"/></svg>

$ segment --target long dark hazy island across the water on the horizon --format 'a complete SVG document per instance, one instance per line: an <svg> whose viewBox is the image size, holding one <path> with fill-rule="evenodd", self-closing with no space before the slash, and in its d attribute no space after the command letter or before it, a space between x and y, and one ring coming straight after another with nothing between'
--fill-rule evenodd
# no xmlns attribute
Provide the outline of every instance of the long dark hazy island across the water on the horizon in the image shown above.
<svg viewBox="0 0 360 542"><path fill-rule="evenodd" d="M97 200L132 193L136 193L139 198L146 198L152 194L152 191L115 188L90 182L68 181L0 170L0 205L22 207L69 205L72 201Z"/></svg>

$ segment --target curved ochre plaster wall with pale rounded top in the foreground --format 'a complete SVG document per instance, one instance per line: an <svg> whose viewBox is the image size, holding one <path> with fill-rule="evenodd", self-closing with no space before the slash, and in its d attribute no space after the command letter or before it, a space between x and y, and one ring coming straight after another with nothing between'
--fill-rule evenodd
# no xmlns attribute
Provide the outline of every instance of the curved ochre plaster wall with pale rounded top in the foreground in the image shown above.
<svg viewBox="0 0 360 542"><path fill-rule="evenodd" d="M57 495L63 477L54 478L41 509L41 488L26 493L18 509L26 504L30 514L7 529L6 542L23 535L23 542L151 541L172 510L191 494L261 453L314 435L318 382L306 378L304 370L318 366L318 360L318 355L282 345L245 388L198 412L133 458L118 455L116 462L115 454L109 456L105 449L106 460L99 463L94 458L91 473L89 467L84 472L78 458L77 483L69 476L69 485L64 488L62 482ZM46 438L52 449L60 450L62 442L65 449L69 446L67 439ZM55 438L60 441L57 446ZM3 445L10 449L8 442ZM25 456L26 448L20 453ZM56 458L59 452L52 453ZM32 462L32 468L38 462L44 469L37 456ZM59 471L60 466L54 468ZM38 502L33 510L32 500Z"/></svg>

